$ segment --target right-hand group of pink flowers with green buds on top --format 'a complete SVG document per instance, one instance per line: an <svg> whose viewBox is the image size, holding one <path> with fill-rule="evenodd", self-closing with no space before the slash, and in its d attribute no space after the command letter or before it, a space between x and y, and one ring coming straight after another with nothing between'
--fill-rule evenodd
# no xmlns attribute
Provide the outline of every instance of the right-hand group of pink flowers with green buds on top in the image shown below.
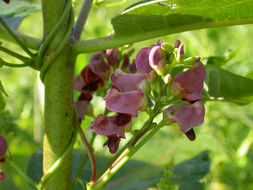
<svg viewBox="0 0 253 190"><path fill-rule="evenodd" d="M172 76L173 68L177 65L191 67L175 77ZM176 97L187 101L190 105L174 105L164 111L170 115L169 124L177 122L180 130L190 140L195 139L193 127L204 122L205 108L202 102L202 90L205 79L205 67L199 57L184 60L184 45L176 41L173 47L158 41L156 45L143 48L136 56L137 70L148 79L155 80L156 76L162 77L166 84L170 83L172 92Z"/></svg>

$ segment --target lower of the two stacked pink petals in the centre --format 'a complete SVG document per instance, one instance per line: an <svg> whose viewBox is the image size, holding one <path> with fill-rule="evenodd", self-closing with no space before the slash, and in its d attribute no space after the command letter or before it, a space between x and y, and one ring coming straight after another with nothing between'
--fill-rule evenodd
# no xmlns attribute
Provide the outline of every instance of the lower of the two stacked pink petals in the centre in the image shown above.
<svg viewBox="0 0 253 190"><path fill-rule="evenodd" d="M137 117L138 110L146 106L146 99L141 91L119 92L117 89L111 88L105 100L107 109L130 114L133 117Z"/></svg>

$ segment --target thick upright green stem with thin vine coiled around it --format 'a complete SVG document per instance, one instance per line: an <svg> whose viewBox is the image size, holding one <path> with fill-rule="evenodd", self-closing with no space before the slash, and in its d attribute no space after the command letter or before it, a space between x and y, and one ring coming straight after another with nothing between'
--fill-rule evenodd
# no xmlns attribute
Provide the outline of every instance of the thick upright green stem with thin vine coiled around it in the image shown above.
<svg viewBox="0 0 253 190"><path fill-rule="evenodd" d="M64 8L69 0L43 0L44 39L58 23ZM46 56L51 55L68 29L67 17L55 38L47 48ZM45 135L43 152L43 171L46 173L55 162L61 158L71 135L73 134L73 77L74 61L71 48L67 45L51 63L45 73ZM69 151L62 160L62 166L44 185L44 189L68 190L71 189L72 151Z"/></svg>

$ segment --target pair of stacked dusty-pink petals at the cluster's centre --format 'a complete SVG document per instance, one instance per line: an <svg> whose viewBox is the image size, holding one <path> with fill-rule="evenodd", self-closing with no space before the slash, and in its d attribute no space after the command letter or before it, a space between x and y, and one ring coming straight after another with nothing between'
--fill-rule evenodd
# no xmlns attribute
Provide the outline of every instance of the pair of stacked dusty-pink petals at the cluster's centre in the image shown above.
<svg viewBox="0 0 253 190"><path fill-rule="evenodd" d="M112 88L105 97L107 109L137 117L138 110L146 107L144 90L145 77L140 74L127 74L117 69L111 74Z"/></svg>

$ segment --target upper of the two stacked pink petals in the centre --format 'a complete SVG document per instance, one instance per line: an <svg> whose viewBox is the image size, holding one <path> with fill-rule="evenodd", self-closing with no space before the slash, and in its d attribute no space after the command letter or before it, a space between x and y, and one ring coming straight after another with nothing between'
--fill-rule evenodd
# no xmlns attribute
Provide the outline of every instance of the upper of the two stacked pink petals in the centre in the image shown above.
<svg viewBox="0 0 253 190"><path fill-rule="evenodd" d="M146 86L145 77L141 74L124 73L121 69L116 69L110 76L111 83L120 92L143 90Z"/></svg>

